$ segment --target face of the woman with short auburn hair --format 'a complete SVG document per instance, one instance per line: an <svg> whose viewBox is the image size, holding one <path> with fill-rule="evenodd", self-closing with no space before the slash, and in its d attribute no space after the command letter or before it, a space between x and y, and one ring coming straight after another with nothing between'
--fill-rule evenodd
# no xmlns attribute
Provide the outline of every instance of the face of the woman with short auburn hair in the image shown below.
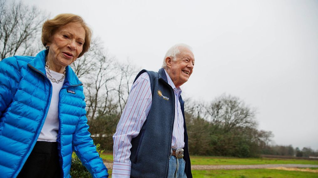
<svg viewBox="0 0 318 178"><path fill-rule="evenodd" d="M68 23L59 29L51 37L48 58L55 65L55 69L61 69L72 64L83 50L85 42L85 30L77 22ZM52 66L53 67L53 66Z"/></svg>

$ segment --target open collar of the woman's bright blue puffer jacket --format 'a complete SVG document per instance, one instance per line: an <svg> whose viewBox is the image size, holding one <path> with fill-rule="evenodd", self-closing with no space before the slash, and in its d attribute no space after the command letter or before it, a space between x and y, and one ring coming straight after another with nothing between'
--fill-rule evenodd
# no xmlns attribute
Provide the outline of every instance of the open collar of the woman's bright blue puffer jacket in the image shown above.
<svg viewBox="0 0 318 178"><path fill-rule="evenodd" d="M47 51L43 50L39 52L33 60L31 60L28 65L34 69L36 69L39 72L42 72L46 76L46 71L45 71L45 57L47 55ZM65 84L67 85L83 85L72 68L70 66L66 66L66 74L65 74Z"/></svg>

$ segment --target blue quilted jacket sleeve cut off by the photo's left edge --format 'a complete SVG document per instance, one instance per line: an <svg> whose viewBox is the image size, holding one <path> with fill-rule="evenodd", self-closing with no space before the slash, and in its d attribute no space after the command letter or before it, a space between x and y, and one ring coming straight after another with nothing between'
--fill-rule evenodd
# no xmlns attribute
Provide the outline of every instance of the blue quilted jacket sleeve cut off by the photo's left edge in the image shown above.
<svg viewBox="0 0 318 178"><path fill-rule="evenodd" d="M20 70L15 57L0 62L0 111L1 114L12 102L20 81Z"/></svg>

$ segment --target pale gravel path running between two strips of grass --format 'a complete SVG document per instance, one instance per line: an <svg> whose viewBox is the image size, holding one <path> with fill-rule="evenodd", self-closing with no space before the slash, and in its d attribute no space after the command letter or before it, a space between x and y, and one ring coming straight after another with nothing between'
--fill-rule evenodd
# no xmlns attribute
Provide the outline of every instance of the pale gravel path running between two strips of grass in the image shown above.
<svg viewBox="0 0 318 178"><path fill-rule="evenodd" d="M113 169L113 163L104 162L107 169ZM265 169L265 168L318 168L312 164L257 164L257 165L191 165L191 169L210 170L210 169Z"/></svg>

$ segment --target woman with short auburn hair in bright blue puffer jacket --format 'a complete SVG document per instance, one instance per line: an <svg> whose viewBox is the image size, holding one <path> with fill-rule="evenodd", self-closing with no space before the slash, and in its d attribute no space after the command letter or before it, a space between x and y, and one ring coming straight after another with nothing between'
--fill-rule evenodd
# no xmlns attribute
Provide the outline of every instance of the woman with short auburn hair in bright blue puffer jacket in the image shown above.
<svg viewBox="0 0 318 178"><path fill-rule="evenodd" d="M72 151L93 177L108 177L87 131L82 83L69 66L90 47L78 15L42 28L46 50L0 62L0 177L70 177Z"/></svg>

